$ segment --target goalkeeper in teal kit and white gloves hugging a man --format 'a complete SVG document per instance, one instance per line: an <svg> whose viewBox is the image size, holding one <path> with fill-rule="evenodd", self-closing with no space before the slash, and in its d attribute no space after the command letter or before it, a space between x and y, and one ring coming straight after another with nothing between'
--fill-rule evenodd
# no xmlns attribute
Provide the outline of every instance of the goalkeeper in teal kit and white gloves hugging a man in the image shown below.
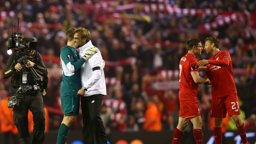
<svg viewBox="0 0 256 144"><path fill-rule="evenodd" d="M60 87L60 100L64 118L58 132L57 144L64 144L68 135L68 128L73 124L75 115L79 114L80 96L77 95L81 88L80 67L87 59L98 52L98 48L90 48L79 59L78 51L74 48L74 31L70 28L66 32L67 46L60 52L63 76Z"/></svg>

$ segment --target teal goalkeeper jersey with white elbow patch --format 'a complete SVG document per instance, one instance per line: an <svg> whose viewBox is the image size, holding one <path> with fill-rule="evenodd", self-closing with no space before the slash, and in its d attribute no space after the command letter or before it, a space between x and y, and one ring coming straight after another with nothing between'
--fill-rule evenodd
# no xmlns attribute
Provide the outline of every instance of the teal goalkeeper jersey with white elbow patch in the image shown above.
<svg viewBox="0 0 256 144"><path fill-rule="evenodd" d="M63 74L60 93L78 92L81 89L80 67L85 63L85 60L79 59L78 51L70 46L61 50L60 60Z"/></svg>

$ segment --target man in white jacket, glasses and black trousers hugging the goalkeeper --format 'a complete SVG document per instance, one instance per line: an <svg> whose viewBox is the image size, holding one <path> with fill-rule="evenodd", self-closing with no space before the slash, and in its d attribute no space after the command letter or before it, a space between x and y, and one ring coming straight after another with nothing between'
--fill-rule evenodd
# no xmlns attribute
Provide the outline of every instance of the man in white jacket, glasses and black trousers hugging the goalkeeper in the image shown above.
<svg viewBox="0 0 256 144"><path fill-rule="evenodd" d="M80 49L79 57L94 47L90 41L90 31L77 28L74 34L75 47ZM100 118L101 103L106 92L103 59L100 51L94 54L81 66L81 84L78 91L81 95L81 109L83 115L83 141L85 144L107 144L105 128Z"/></svg>

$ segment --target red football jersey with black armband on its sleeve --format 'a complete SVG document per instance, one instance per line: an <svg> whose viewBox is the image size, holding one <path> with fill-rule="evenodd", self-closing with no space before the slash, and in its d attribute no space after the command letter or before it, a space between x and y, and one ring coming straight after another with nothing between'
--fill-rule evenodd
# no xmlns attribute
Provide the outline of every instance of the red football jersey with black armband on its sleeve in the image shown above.
<svg viewBox="0 0 256 144"><path fill-rule="evenodd" d="M190 53L185 54L180 60L180 100L197 99L197 84L194 82L190 72L198 72L197 59ZM192 66L197 66L197 70L190 70Z"/></svg>

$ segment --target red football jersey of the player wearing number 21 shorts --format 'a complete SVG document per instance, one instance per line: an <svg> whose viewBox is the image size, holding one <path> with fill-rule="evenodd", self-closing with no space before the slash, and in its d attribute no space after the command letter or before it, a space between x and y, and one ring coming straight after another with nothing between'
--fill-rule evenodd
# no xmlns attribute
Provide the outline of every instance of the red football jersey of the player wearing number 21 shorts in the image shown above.
<svg viewBox="0 0 256 144"><path fill-rule="evenodd" d="M212 82L212 98L237 93L232 60L228 51L219 51L213 55L206 66L206 75Z"/></svg>

